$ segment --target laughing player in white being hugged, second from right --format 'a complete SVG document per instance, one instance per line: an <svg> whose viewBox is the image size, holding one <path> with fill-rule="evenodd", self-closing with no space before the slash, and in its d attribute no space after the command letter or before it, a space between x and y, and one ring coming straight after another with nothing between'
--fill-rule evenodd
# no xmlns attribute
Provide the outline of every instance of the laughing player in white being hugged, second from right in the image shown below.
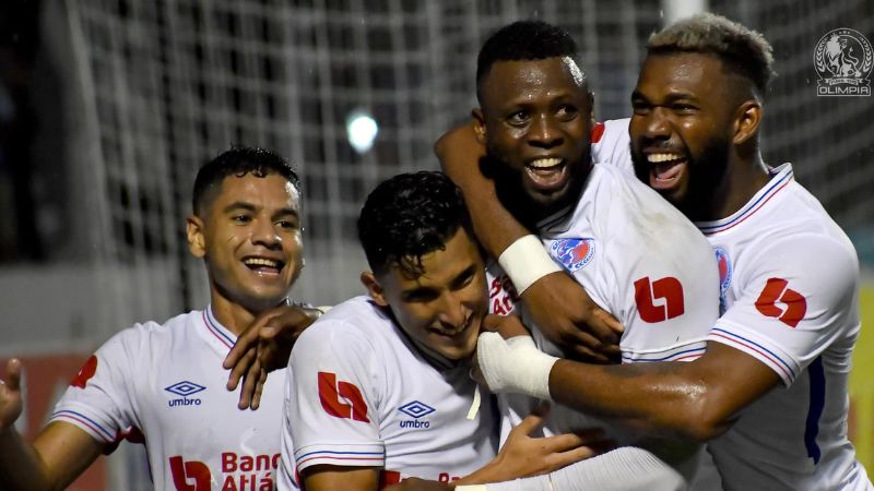
<svg viewBox="0 0 874 491"><path fill-rule="evenodd" d="M569 34L541 22L510 24L489 37L480 52L480 108L473 116L476 136L487 148L483 166L494 177L500 203L540 236L496 251L498 261L524 296L532 264L520 267L507 258L539 258L530 252L542 254L545 247L550 258L541 263L553 271L560 265L625 326L623 361L693 359L704 352L718 315L713 253L681 213L633 175L591 164L592 97L575 57ZM476 171L466 160L461 169L447 167L457 178ZM476 195L479 184L464 184L463 177L459 180L465 197ZM475 202L468 202L477 209ZM511 291L495 294L493 303L512 306L504 300ZM523 318L533 321L527 324L540 327L525 308ZM536 345L558 355L548 334L533 330ZM520 367L529 366L525 361ZM527 382L529 395L548 397L546 378L529 368L540 376ZM504 400L506 434L535 402L512 395ZM605 426L559 406L551 412L546 430L566 432L593 423ZM637 443L635 434L607 427L621 443ZM647 446L688 478L695 475L699 456L693 448L671 451L668 457L658 444Z"/></svg>

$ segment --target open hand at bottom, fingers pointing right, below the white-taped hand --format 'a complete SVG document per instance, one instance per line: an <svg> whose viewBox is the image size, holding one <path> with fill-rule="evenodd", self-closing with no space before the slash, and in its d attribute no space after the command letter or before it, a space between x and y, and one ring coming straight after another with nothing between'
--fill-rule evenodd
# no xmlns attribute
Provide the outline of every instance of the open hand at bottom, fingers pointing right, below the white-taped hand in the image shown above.
<svg viewBox="0 0 874 491"><path fill-rule="evenodd" d="M510 431L497 457L459 483L503 482L540 476L615 446L615 442L607 440L600 428L554 436L531 436L543 426L547 414L548 405L540 405Z"/></svg>

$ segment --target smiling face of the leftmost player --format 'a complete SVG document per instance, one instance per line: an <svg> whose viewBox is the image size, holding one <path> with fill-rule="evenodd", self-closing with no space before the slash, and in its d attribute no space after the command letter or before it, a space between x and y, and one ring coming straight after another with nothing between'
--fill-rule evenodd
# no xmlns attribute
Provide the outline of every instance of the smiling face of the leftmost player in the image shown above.
<svg viewBox="0 0 874 491"><path fill-rule="evenodd" d="M205 260L214 303L258 313L285 298L303 266L299 200L280 175L232 175L202 216L188 218L189 249Z"/></svg>

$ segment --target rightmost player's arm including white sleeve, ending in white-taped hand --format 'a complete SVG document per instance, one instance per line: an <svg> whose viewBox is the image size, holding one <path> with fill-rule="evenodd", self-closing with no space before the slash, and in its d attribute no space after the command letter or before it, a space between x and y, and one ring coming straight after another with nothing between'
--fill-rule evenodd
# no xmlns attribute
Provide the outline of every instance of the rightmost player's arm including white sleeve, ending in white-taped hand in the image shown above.
<svg viewBox="0 0 874 491"><path fill-rule="evenodd" d="M849 248L811 236L757 251L760 261L748 261L759 267L695 361L598 367L546 359L533 344L508 346L496 333L485 333L477 348L483 375L489 386L494 381L510 386L507 392L523 393L540 387L556 402L618 418L652 435L713 439L741 409L781 383L791 385L841 330L858 327L859 270ZM501 368L491 372L493 364ZM540 367L539 374L521 373L513 364Z"/></svg>

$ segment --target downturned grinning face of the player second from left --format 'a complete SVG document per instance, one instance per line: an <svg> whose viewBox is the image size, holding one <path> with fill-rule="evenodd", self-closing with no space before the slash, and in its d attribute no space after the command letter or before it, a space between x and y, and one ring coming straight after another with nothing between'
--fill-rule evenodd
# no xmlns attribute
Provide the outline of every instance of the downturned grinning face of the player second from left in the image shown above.
<svg viewBox="0 0 874 491"><path fill-rule="evenodd" d="M362 279L370 297L388 307L416 345L449 360L470 358L487 309L485 265L464 228L444 250L422 255L422 274L412 277L397 263Z"/></svg>

